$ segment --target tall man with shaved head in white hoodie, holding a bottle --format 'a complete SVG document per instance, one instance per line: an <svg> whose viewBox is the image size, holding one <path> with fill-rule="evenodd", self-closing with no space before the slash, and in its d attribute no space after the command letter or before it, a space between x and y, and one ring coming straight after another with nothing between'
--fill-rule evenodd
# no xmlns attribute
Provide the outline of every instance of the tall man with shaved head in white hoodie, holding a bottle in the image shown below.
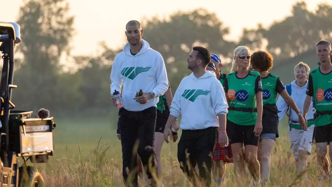
<svg viewBox="0 0 332 187"><path fill-rule="evenodd" d="M119 110L119 127L122 144L124 181L137 184L136 151L141 157L149 179L156 173L155 162L148 167L154 156L153 143L159 96L165 94L169 85L164 60L159 52L150 48L142 39L143 29L138 21L131 20L126 25L127 43L117 54L111 71L111 100L116 105L113 93L122 91L122 105ZM136 92L143 95L135 97ZM138 140L138 149L135 145ZM134 156L133 156L134 155ZM129 172L132 177L128 177ZM127 181L129 178L130 181ZM131 181L133 178L133 181Z"/></svg>

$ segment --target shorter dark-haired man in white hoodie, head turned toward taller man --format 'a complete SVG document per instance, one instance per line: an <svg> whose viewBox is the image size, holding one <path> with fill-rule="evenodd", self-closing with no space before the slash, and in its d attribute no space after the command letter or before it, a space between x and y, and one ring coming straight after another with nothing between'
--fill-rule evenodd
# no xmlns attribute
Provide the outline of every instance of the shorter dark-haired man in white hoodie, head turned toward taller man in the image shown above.
<svg viewBox="0 0 332 187"><path fill-rule="evenodd" d="M212 151L218 138L221 146L228 143L226 134L226 114L228 104L224 89L214 72L206 71L210 62L210 52L203 47L193 47L187 58L188 69L193 73L182 79L174 94L168 117L164 139L168 143L169 128L178 130L175 119L182 116L182 134L178 143L180 168L194 186L194 176L200 176L203 186L211 185ZM219 133L218 133L219 127ZM189 162L187 164L187 154ZM195 170L198 164L199 175Z"/></svg>

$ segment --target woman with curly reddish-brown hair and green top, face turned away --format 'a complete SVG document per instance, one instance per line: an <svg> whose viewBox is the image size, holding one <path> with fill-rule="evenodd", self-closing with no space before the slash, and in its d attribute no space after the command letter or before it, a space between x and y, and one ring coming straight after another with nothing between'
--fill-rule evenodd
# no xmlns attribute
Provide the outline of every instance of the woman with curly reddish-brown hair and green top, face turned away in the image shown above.
<svg viewBox="0 0 332 187"><path fill-rule="evenodd" d="M276 75L269 73L273 67L273 57L267 51L257 51L251 56L251 69L259 72L262 80L263 88L263 115L262 126L263 131L260 136L257 158L260 163L260 176L262 183L269 183L270 178L270 155L271 149L278 134L278 108L276 105L277 93L285 99L285 102L298 115L299 123L305 130L305 121L301 115L301 111L296 106L294 100L286 91L284 84Z"/></svg>

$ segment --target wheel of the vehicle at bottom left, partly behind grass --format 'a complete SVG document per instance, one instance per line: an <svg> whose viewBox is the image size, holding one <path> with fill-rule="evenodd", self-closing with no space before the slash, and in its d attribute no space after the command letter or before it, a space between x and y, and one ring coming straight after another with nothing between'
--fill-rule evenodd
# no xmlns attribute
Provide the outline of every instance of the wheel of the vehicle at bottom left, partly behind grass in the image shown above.
<svg viewBox="0 0 332 187"><path fill-rule="evenodd" d="M34 167L19 168L19 187L45 187L41 173Z"/></svg>

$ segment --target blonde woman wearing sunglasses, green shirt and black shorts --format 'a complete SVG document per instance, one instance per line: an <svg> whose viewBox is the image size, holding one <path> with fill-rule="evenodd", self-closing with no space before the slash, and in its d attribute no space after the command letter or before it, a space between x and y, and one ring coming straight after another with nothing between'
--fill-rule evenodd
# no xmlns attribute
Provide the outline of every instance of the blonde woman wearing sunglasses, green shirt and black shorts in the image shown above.
<svg viewBox="0 0 332 187"><path fill-rule="evenodd" d="M246 46L234 50L231 73L224 90L228 101L226 131L229 136L237 182L245 178L245 162L254 185L261 185L257 148L262 132L262 83L258 72L248 70L251 52ZM243 148L244 145L244 148Z"/></svg>

